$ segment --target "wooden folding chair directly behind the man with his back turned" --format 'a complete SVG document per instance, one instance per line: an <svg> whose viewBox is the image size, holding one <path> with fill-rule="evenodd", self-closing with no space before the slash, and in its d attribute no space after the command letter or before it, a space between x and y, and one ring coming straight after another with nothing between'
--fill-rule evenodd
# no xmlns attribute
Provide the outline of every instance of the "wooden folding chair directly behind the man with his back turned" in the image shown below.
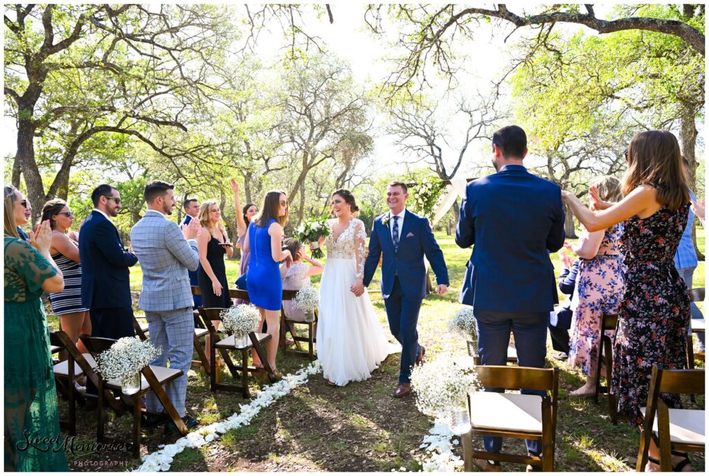
<svg viewBox="0 0 709 476"><path fill-rule="evenodd" d="M464 470L473 470L473 460L505 461L554 470L557 428L559 369L538 369L507 365L476 367L478 380L486 388L529 389L550 392L544 397L516 393L472 392L468 396L471 431L462 436ZM542 441L542 455L489 453L473 449L472 434Z"/></svg>

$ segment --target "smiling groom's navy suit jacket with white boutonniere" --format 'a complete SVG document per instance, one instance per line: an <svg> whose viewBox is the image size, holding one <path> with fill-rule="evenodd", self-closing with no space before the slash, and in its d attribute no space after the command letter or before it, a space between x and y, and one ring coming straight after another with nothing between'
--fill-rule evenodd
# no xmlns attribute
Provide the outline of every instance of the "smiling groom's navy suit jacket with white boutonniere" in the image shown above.
<svg viewBox="0 0 709 476"><path fill-rule="evenodd" d="M406 211L399 236L396 252L391 240L391 223L381 223L389 213L378 216L372 225L369 236L369 256L364 263L364 286L372 282L376 266L381 260L381 294L389 297L394 286L394 277L398 275L401 292L406 299L423 299L426 296L425 255L436 275L438 284L448 282L448 269L443 259L443 252L436 243L428 220L423 216Z"/></svg>

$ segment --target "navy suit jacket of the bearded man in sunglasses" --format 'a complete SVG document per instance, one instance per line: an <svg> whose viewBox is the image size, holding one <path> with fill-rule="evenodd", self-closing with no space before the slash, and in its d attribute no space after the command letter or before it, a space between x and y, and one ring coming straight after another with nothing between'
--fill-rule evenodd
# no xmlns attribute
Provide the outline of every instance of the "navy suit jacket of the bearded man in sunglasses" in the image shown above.
<svg viewBox="0 0 709 476"><path fill-rule="evenodd" d="M87 309L130 307L128 267L138 258L123 248L113 223L91 211L79 233L82 259L82 306Z"/></svg>

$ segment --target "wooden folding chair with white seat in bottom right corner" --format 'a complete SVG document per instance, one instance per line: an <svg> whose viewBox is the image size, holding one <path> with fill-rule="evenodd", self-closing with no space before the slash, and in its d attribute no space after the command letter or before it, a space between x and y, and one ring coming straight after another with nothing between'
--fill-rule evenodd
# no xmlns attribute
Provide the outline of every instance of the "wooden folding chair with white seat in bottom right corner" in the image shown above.
<svg viewBox="0 0 709 476"><path fill-rule="evenodd" d="M660 394L704 394L704 370L663 370L652 366L647 406L643 414L637 472L647 465L650 440L660 450L660 470L672 471L673 451L705 452L704 410L671 409Z"/></svg>

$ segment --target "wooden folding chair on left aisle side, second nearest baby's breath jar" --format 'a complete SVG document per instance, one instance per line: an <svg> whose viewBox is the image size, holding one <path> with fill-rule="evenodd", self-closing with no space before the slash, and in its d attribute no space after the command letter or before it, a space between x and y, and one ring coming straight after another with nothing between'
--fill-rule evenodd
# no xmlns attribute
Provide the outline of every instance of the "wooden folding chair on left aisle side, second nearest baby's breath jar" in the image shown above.
<svg viewBox="0 0 709 476"><path fill-rule="evenodd" d="M223 311L220 307L201 307L199 308L199 314L202 316L202 321L204 326L207 328L210 335L210 345L209 345L209 360L211 369L209 371L209 387L212 392L217 390L227 390L228 392L241 392L244 398L250 398L251 394L249 392L249 372L261 372L261 369L249 365L249 353L253 348L256 350L259 359L263 365L263 370L268 374L269 380L271 382L276 381L276 376L273 373L271 366L266 358L266 351L262 347L262 343L265 343L271 339L270 334L267 333L249 333L250 343L247 345L238 345L234 336L228 336L226 338L221 338L217 332L212 321L221 321L220 313ZM240 380L239 385L235 384L225 384L217 382L217 371L216 371L216 351L219 351L222 356L224 363L231 372L232 377L235 380ZM231 358L229 357L229 351L235 351L241 354L241 365L239 369L234 365Z"/></svg>

